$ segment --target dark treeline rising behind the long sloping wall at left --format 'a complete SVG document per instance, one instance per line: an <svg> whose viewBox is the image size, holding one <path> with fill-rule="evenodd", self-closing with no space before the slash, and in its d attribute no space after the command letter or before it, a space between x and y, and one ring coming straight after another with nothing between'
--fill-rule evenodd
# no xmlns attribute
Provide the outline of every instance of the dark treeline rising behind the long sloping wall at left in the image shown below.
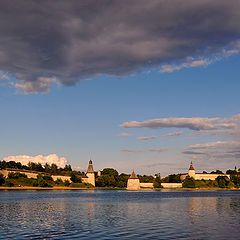
<svg viewBox="0 0 240 240"><path fill-rule="evenodd" d="M83 172L73 171L71 165L65 165L64 168L59 168L56 164L44 164L41 163L34 163L29 162L27 165L22 165L20 162L15 161L0 161L0 169L6 169L6 168L13 168L13 169L20 169L20 170L30 170L30 171L36 171L36 172L42 172L42 173L48 173L51 175L65 175L70 176L72 172L75 174L81 174L83 175Z"/></svg>

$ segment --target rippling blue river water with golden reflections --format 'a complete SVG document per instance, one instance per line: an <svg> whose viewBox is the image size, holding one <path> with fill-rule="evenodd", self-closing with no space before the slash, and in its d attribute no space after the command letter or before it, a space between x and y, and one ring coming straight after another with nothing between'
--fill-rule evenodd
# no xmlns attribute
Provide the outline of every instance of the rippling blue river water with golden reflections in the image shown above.
<svg viewBox="0 0 240 240"><path fill-rule="evenodd" d="M240 191L0 191L0 239L240 239Z"/></svg>

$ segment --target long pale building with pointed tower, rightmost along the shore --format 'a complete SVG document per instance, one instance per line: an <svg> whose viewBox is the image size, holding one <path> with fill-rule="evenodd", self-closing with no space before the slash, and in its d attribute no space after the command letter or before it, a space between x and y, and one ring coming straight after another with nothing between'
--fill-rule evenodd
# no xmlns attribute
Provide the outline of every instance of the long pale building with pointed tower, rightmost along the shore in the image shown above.
<svg viewBox="0 0 240 240"><path fill-rule="evenodd" d="M180 178L182 181L189 176L194 178L195 180L215 180L219 176L225 176L230 179L230 174L217 174L217 173L196 173L193 167L193 163L191 162L188 173L181 174Z"/></svg>

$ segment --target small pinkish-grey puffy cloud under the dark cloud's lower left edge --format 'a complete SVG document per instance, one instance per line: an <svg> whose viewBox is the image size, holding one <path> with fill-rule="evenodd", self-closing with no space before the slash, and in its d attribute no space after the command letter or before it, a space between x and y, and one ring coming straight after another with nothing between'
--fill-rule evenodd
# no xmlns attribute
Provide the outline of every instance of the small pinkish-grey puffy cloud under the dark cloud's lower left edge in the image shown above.
<svg viewBox="0 0 240 240"><path fill-rule="evenodd" d="M47 94L50 91L50 86L55 82L56 78L54 77L38 77L36 81L19 80L17 83L10 82L9 84L23 90L24 94Z"/></svg>

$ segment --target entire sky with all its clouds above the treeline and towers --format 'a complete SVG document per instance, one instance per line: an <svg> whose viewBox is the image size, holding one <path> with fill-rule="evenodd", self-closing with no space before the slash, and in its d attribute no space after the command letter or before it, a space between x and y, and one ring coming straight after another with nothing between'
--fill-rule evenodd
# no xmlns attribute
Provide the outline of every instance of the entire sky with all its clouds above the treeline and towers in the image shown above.
<svg viewBox="0 0 240 240"><path fill-rule="evenodd" d="M240 167L239 1L3 0L0 19L0 159Z"/></svg>

